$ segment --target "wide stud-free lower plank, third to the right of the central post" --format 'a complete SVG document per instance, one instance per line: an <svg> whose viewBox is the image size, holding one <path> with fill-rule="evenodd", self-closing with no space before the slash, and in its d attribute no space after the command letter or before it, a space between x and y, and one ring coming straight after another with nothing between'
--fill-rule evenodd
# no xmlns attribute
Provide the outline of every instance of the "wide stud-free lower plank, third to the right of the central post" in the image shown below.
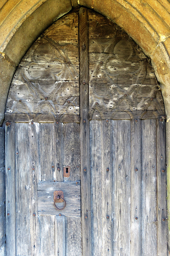
<svg viewBox="0 0 170 256"><path fill-rule="evenodd" d="M115 232L113 255L130 255L131 160L129 156L131 155L131 123L130 120L114 122L117 122L117 146L114 149L117 158L117 176L114 176L113 180L113 191L115 191L113 195L113 207L115 208L113 212L113 232Z"/></svg>

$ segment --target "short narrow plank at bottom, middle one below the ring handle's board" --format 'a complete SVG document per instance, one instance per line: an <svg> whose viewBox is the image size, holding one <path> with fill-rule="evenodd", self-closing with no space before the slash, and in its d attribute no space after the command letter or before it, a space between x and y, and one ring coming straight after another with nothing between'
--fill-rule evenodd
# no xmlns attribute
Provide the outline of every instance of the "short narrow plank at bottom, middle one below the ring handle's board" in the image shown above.
<svg viewBox="0 0 170 256"><path fill-rule="evenodd" d="M68 236L70 238L70 236ZM65 256L65 216L55 216L55 255Z"/></svg>

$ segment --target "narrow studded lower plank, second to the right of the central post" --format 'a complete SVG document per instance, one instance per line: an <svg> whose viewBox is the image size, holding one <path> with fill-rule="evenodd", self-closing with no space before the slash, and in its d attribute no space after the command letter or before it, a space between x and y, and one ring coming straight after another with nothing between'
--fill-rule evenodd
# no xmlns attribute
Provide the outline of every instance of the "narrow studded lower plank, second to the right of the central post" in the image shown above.
<svg viewBox="0 0 170 256"><path fill-rule="evenodd" d="M112 120L102 120L102 255L111 256L112 248L112 154L113 133ZM109 170L108 170L109 169ZM99 209L98 209L99 210Z"/></svg>

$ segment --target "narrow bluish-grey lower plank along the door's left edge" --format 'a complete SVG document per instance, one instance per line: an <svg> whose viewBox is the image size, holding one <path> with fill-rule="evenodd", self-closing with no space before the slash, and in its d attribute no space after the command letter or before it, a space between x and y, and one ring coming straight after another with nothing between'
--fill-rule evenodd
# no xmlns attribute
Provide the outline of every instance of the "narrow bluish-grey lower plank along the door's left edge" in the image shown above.
<svg viewBox="0 0 170 256"><path fill-rule="evenodd" d="M5 127L6 153L6 255L16 256L16 131Z"/></svg>

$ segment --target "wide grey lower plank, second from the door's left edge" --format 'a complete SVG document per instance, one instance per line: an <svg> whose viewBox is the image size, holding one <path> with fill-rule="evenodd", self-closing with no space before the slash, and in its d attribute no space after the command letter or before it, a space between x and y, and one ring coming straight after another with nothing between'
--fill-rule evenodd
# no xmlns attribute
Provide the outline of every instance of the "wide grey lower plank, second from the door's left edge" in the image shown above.
<svg viewBox="0 0 170 256"><path fill-rule="evenodd" d="M27 134L27 136L26 136ZM32 184L29 158L29 124L16 123L16 254L31 255L30 214Z"/></svg>

